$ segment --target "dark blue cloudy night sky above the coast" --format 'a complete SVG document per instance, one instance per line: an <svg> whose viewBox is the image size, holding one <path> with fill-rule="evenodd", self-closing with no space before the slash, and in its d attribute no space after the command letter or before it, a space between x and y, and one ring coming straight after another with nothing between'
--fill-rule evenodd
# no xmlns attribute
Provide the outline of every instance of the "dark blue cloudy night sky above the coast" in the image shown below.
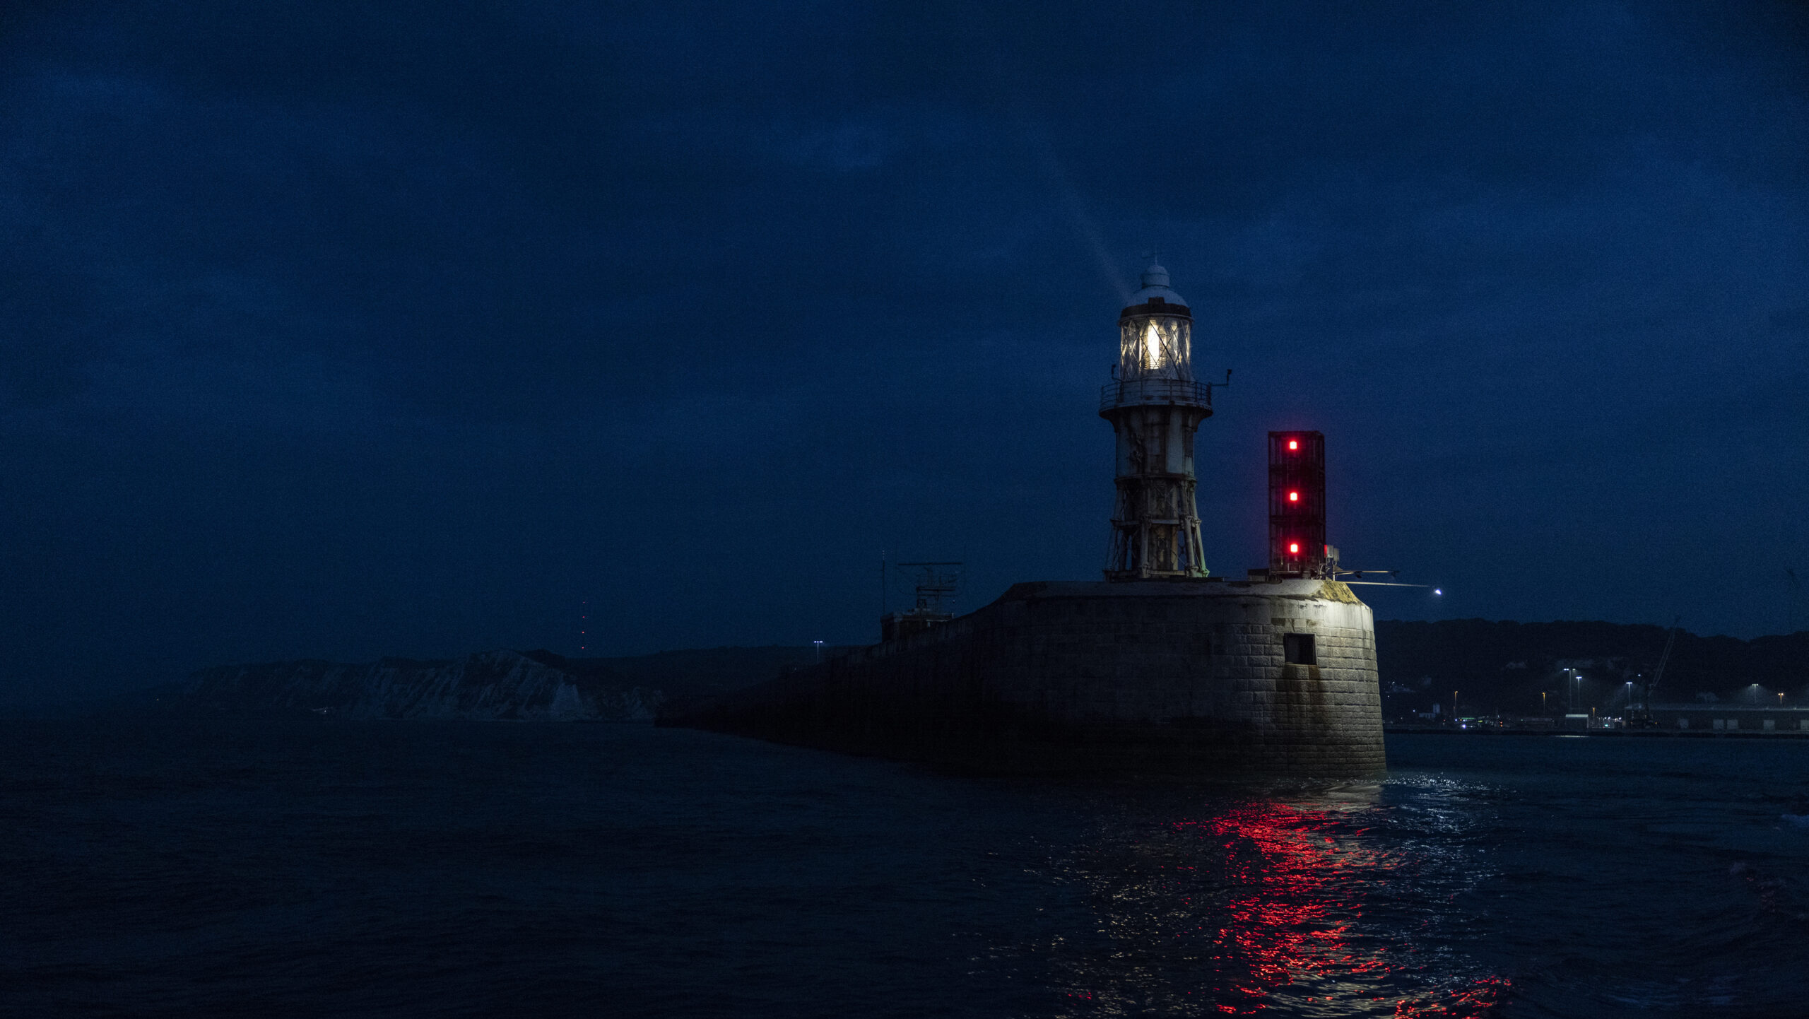
<svg viewBox="0 0 1809 1019"><path fill-rule="evenodd" d="M1152 248L1214 574L1304 427L1378 617L1809 579L1804 5L0 11L0 700L1096 579Z"/></svg>

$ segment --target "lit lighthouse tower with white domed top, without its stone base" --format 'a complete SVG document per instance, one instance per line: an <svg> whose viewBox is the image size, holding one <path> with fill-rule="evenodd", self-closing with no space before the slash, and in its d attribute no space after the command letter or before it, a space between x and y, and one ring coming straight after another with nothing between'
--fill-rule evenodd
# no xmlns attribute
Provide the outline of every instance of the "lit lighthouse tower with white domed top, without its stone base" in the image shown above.
<svg viewBox="0 0 1809 1019"><path fill-rule="evenodd" d="M1118 313L1118 364L1100 416L1118 434L1118 501L1105 579L1205 577L1194 505L1194 431L1212 416L1212 386L1194 382L1194 315L1151 262Z"/></svg>

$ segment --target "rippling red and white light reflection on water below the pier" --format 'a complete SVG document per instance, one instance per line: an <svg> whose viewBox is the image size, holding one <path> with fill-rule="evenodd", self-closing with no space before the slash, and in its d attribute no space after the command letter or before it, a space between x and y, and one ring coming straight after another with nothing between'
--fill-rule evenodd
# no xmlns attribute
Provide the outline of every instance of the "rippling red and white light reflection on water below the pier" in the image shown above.
<svg viewBox="0 0 1809 1019"><path fill-rule="evenodd" d="M1415 894L1444 901L1445 892L1416 892L1411 852L1375 843L1351 811L1281 802L1239 804L1140 840L1109 867L1114 874L1093 874L1109 890L1116 959L1127 967L1105 967L1120 979L1084 994L1167 1014L1498 1012L1509 981L1465 972L1422 945L1429 918L1398 905ZM1151 880L1151 863L1170 878ZM1384 898L1395 903L1378 907Z"/></svg>

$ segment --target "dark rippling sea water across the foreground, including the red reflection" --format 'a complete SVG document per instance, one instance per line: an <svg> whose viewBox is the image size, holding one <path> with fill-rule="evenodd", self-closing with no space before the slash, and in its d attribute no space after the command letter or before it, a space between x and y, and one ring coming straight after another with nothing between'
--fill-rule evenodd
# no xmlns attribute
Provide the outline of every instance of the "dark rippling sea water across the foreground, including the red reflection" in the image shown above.
<svg viewBox="0 0 1809 1019"><path fill-rule="evenodd" d="M1809 742L1380 782L602 724L0 724L9 1015L1804 1015Z"/></svg>

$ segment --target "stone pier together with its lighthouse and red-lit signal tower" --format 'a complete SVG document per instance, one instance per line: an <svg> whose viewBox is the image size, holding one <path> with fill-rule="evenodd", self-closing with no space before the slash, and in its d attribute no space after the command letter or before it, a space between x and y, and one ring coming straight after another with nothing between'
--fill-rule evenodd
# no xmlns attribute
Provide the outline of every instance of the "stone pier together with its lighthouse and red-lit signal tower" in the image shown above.
<svg viewBox="0 0 1809 1019"><path fill-rule="evenodd" d="M1105 579L1017 583L966 615L919 606L870 648L660 724L995 775L1378 775L1375 619L1324 543L1324 436L1270 433L1270 565L1207 576L1194 433L1221 384L1194 376L1192 344L1152 262L1100 393L1118 445Z"/></svg>

